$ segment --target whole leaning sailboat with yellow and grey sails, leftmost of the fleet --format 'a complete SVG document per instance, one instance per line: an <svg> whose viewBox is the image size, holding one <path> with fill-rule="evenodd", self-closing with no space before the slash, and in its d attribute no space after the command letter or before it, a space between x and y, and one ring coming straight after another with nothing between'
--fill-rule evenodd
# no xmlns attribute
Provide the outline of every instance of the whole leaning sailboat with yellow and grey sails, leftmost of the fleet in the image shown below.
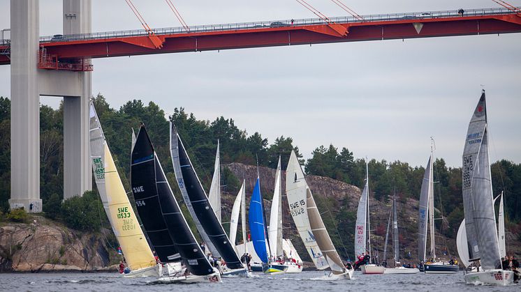
<svg viewBox="0 0 521 292"><path fill-rule="evenodd" d="M112 231L130 268L124 277L151 277L159 275L159 266L150 249L134 210L126 196L122 180L110 154L103 129L90 102L90 157L94 180L107 213Z"/></svg>

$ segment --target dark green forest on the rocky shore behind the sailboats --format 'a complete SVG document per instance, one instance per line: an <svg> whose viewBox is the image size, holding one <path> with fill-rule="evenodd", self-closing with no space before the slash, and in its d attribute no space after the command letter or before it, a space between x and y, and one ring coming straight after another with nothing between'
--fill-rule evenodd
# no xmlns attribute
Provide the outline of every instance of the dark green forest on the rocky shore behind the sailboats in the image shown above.
<svg viewBox="0 0 521 292"><path fill-rule="evenodd" d="M175 108L173 114L166 117L163 109L156 103L149 102L145 105L141 100L131 100L119 109L115 109L110 107L101 94L94 98L94 105L119 174L127 189L129 188L131 131L132 128L137 131L141 122L147 127L170 182L175 180L168 150L169 120L177 126L206 189L212 179L218 139L221 147L221 164L240 162L255 165L258 162L260 166L275 168L281 155L282 169L286 169L291 150L295 150L302 158L298 146L293 143L291 137L281 135L274 141L268 141L259 132L251 134L241 130L235 125L233 118L219 116L214 121L199 120L194 114L185 112L182 107ZM44 213L49 214L53 219L61 216L57 206L64 205L61 203L64 180L63 114L61 106L59 109L52 109L41 105L41 199L43 199ZM301 162L305 165L307 174L326 176L360 188L365 184L366 160L356 158L347 146L341 148L334 145L317 146L311 153L311 157ZM376 159L369 160L368 164L369 187L376 200L388 202L393 189L399 199L419 198L425 171L423 166L411 166L407 162L398 160L388 162ZM10 197L10 100L3 97L0 97L0 170L0 212L7 213ZM224 185L225 191L236 193L240 187L237 178L227 169L224 169L221 176L223 180L221 184ZM437 182L436 209L446 217L449 226L457 228L463 217L462 169L447 167L443 158L437 157L434 162L434 180ZM521 210L521 164L508 160L494 162L492 184L495 195L501 192L505 194L507 228L521 234L521 212L518 212ZM263 196L265 199L271 199L272 194L263 192ZM91 194L87 198L89 203L96 203L96 194ZM64 206L64 208L75 207ZM89 224L85 226L90 226ZM456 231L451 228L443 232L449 238L455 238Z"/></svg>

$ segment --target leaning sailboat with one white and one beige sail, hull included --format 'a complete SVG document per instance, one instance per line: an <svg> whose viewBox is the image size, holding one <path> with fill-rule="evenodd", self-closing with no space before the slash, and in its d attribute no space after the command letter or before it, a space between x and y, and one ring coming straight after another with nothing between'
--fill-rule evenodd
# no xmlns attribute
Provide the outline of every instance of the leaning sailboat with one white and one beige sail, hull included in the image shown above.
<svg viewBox="0 0 521 292"><path fill-rule="evenodd" d="M300 167L295 151L291 151L286 169L286 198L291 217L316 268L323 270L330 267L329 279L351 279L354 269L344 266L340 259L316 208L313 194L306 183L304 171Z"/></svg>

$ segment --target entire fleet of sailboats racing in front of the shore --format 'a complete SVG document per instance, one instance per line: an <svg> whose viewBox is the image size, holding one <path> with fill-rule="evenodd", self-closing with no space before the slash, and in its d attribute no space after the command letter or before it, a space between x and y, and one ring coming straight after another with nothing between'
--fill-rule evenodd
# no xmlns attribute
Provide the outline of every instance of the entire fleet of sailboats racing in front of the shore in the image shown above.
<svg viewBox="0 0 521 292"><path fill-rule="evenodd" d="M174 197L145 125L140 125L138 135L133 137L131 149L131 192L135 209L119 178L92 103L90 151L96 186L126 261L126 268L120 271L123 277L156 277L159 282L194 283L221 282L221 277L230 275L250 277L251 271L271 275L302 271L302 260L291 240L283 238L280 157L269 221L260 192L259 176L251 194L249 210L246 180L243 179L233 203L227 234L221 213L219 141L214 176L207 194L175 125L170 123L170 156L175 179L203 245L196 240ZM420 265L416 268L400 266L396 194L392 197L386 231L385 263L380 265L372 258L367 164L354 230L354 254L358 260L354 264L342 260L325 228L298 157L295 151L291 151L286 169L285 192L289 213L314 267L325 272L325 279L353 279L354 271L358 268L363 274L412 274L420 270L426 274L443 274L459 271L454 262L446 263L436 259L433 159L431 147L418 206ZM503 193L495 199L492 196L484 91L469 123L462 160L464 220L457 232L456 242L460 260L467 267L464 281L467 284L513 284L514 272L504 270L501 266L501 257L506 255ZM494 203L498 198L499 215L496 221ZM239 222L242 240L237 245ZM251 236L248 239L251 240L247 239L247 226ZM394 267L387 268L390 229ZM428 254L427 236L430 239Z"/></svg>

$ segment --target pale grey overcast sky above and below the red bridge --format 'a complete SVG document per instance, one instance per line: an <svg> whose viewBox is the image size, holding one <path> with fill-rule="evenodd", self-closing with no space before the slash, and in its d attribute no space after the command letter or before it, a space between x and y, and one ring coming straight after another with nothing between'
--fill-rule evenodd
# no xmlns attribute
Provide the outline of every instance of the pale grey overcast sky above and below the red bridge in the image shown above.
<svg viewBox="0 0 521 292"><path fill-rule="evenodd" d="M294 0L173 0L189 25L314 17ZM335 3L309 0L328 16ZM179 26L163 0L134 0L149 26ZM346 1L360 15L499 7L490 0ZM512 1L521 6L520 0ZM0 29L10 26L0 0ZM92 1L92 31L141 29L124 0ZM61 33L61 1L40 1L40 34ZM95 59L92 92L112 107L153 100L167 113L233 118L249 134L293 137L304 157L317 146L355 157L424 165L430 137L438 157L460 167L482 84L491 160L521 162L521 34L385 40ZM0 66L0 95L10 68ZM42 97L57 105L59 98ZM146 123L146 121L145 121Z"/></svg>

